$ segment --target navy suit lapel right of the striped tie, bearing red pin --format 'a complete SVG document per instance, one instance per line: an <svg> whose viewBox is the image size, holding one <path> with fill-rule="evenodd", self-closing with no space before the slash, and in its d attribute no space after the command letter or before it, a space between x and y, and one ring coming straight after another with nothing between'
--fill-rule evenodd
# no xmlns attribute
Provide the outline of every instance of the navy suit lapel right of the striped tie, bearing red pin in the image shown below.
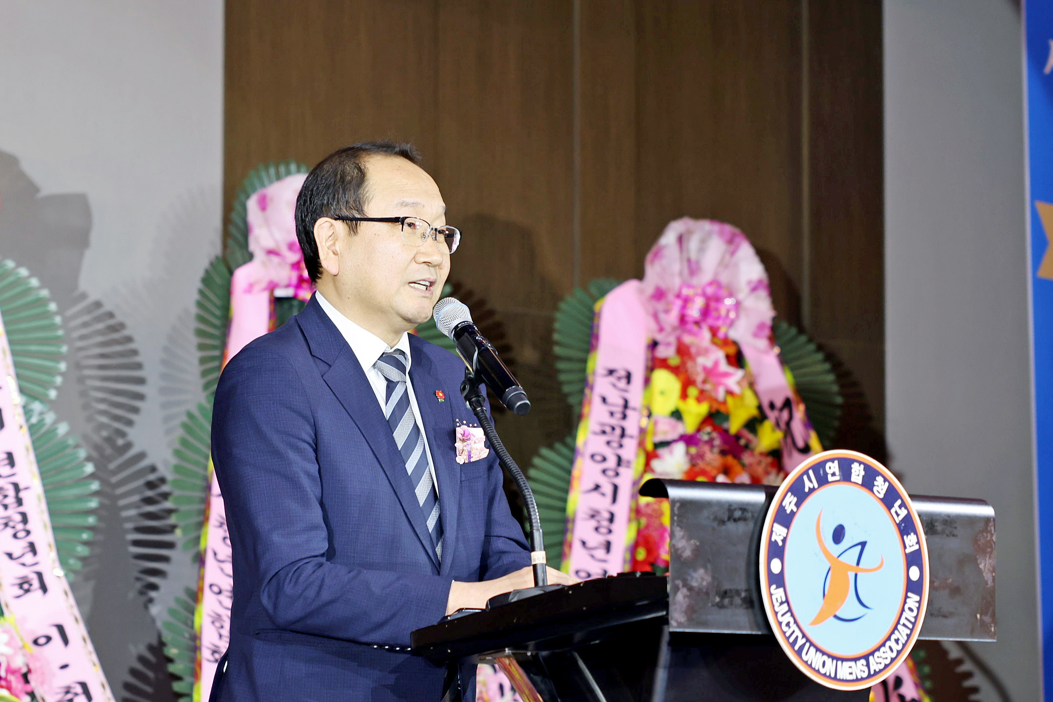
<svg viewBox="0 0 1053 702"><path fill-rule="evenodd" d="M442 567L439 572L446 574L454 562L453 549L457 543L457 508L460 505L460 469L455 461L453 445L454 414L453 403L460 398L460 392L452 396L449 387L441 387L441 379L435 373L434 365L421 347L420 340L411 335L410 349L413 352L413 363L410 366L410 379L413 382L413 393L420 408L420 421L428 435L428 447L432 454L432 465L435 467L435 477L439 483L439 519L442 520ZM446 394L445 402L438 402L436 390ZM394 441L392 442L394 443ZM446 550L449 549L449 550Z"/></svg>

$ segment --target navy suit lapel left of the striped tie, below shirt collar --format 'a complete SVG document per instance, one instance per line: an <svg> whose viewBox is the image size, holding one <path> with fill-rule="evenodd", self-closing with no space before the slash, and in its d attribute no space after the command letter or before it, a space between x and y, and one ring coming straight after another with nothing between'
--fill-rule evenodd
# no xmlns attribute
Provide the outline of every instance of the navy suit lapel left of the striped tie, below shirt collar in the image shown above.
<svg viewBox="0 0 1053 702"><path fill-rule="evenodd" d="M300 329L303 330L311 353L315 357L330 364L329 370L322 373L322 379L336 395L343 409L358 426L366 443L383 468L388 480L402 504L402 510L413 525L421 546L439 565L435 549L432 548L432 537L428 532L428 523L423 510L417 503L417 495L410 483L410 474L405 470L405 462L395 445L391 426L384 418L380 403L373 392L373 386L362 372L362 366L347 346L340 331L321 309L314 297L303 311L297 315ZM425 423L426 426L426 423ZM431 441L431 434L429 434ZM440 492L441 494L441 492ZM441 510L444 505L440 504ZM445 528L445 523L443 523Z"/></svg>

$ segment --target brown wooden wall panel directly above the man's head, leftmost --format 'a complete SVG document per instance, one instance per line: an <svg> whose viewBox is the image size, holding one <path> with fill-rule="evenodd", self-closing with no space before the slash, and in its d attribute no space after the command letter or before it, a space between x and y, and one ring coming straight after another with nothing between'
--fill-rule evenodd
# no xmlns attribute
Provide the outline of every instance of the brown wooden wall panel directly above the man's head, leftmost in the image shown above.
<svg viewBox="0 0 1053 702"><path fill-rule="evenodd" d="M436 143L436 0L227 0L224 212L247 172L356 141Z"/></svg>

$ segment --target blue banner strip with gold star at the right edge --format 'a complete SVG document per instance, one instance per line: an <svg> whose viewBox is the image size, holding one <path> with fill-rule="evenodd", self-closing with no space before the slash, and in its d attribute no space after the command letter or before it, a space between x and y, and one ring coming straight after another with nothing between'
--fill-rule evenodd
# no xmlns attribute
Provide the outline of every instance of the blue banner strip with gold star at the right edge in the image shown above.
<svg viewBox="0 0 1053 702"><path fill-rule="evenodd" d="M1026 3L1024 18L1042 680L1053 702L1053 2Z"/></svg>

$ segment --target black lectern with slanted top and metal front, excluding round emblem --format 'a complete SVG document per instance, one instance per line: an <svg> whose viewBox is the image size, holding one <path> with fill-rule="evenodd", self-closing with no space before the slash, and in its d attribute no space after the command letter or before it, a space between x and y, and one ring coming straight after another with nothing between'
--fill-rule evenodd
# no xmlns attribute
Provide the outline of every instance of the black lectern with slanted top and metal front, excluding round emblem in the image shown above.
<svg viewBox="0 0 1053 702"><path fill-rule="evenodd" d="M455 617L413 632L437 663L498 663L523 702L849 702L779 647L759 591L760 531L775 488L653 479L669 498L668 577L622 573ZM994 510L912 496L929 548L920 639L995 640Z"/></svg>

